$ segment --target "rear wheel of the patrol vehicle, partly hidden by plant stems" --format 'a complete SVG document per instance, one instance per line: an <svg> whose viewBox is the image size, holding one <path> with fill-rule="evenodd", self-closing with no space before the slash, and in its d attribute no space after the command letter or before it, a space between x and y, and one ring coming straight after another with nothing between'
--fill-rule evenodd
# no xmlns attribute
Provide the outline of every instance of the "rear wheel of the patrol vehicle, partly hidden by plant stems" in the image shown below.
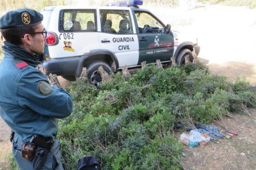
<svg viewBox="0 0 256 170"><path fill-rule="evenodd" d="M100 86L101 83L101 75L100 72L98 71L98 68L102 66L103 69L107 72L107 73L111 73L111 67L105 63L105 62L93 62L91 63L88 68L87 68L87 76L89 79L89 82L91 84L93 84L94 86Z"/></svg>

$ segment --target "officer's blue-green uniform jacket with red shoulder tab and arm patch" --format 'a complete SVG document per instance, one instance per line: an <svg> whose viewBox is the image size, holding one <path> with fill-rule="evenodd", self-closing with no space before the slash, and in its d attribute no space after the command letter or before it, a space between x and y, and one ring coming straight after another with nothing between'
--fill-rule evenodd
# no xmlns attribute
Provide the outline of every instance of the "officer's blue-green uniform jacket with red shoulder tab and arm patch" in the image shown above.
<svg viewBox="0 0 256 170"><path fill-rule="evenodd" d="M0 63L0 115L23 142L33 134L54 139L56 118L70 115L73 100L43 73L7 52Z"/></svg>

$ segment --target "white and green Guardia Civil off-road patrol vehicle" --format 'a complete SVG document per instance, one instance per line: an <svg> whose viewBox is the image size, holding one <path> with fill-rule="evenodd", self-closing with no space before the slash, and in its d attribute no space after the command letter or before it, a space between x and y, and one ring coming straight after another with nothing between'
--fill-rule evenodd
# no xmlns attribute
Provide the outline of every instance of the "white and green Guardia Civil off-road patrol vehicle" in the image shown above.
<svg viewBox="0 0 256 170"><path fill-rule="evenodd" d="M40 67L46 74L61 75L70 81L87 68L90 83L101 81L98 68L108 73L147 64L170 63L175 57L181 65L192 53L198 55L197 42L179 41L171 26L149 10L138 6L141 0L119 2L102 7L51 6L41 10L48 31L45 59Z"/></svg>

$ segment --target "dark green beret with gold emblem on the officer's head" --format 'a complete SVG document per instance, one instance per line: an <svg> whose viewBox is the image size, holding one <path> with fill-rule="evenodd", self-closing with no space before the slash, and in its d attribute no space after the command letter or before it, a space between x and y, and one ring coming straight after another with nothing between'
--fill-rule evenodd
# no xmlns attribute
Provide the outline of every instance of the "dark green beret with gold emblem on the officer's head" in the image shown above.
<svg viewBox="0 0 256 170"><path fill-rule="evenodd" d="M0 29L35 26L41 23L43 15L33 9L17 9L0 18Z"/></svg>

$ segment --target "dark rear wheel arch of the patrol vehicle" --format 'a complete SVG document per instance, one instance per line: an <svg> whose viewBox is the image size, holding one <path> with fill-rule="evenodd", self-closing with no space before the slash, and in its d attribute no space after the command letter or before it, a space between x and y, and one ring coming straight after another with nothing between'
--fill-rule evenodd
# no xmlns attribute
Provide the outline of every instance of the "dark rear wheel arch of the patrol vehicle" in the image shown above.
<svg viewBox="0 0 256 170"><path fill-rule="evenodd" d="M115 72L117 68L119 68L119 62L117 60L117 57L113 52L108 50L93 50L90 51L90 53L84 54L82 56L82 59L79 61L79 65L77 67L75 76L80 76L82 72L83 67L88 67L90 63L96 62L96 61L103 61L109 64L111 69Z"/></svg>

